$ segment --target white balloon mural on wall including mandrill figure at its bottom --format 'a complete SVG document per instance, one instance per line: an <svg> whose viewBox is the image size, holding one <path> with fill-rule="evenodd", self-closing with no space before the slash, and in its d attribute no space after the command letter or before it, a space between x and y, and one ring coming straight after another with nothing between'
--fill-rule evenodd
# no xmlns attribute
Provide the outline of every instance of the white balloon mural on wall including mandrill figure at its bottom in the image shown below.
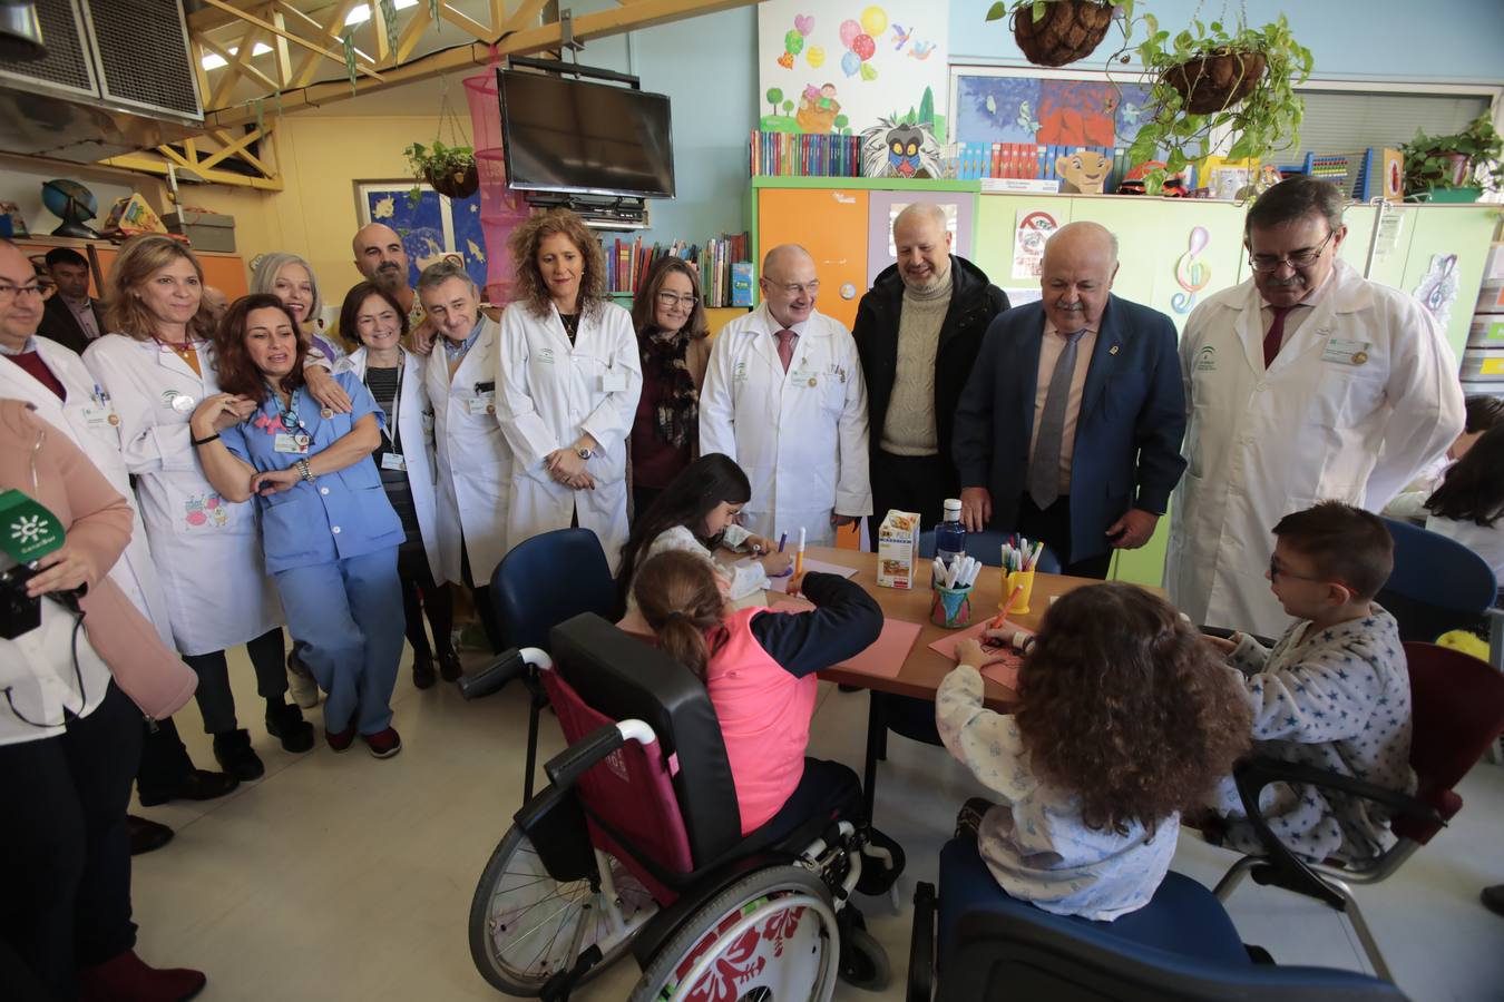
<svg viewBox="0 0 1504 1002"><path fill-rule="evenodd" d="M946 143L949 9L931 0L766 0L758 5L758 93L764 132L878 131L884 177L937 173ZM889 161L887 134L905 126ZM913 138L914 152L908 153ZM932 156L931 164L925 161ZM866 158L863 156L863 161ZM911 171L911 173L910 173Z"/></svg>

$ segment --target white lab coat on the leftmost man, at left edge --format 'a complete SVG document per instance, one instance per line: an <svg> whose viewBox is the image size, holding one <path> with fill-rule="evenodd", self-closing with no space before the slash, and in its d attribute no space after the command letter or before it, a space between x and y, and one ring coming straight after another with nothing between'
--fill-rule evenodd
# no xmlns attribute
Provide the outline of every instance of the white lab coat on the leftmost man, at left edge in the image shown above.
<svg viewBox="0 0 1504 1002"><path fill-rule="evenodd" d="M135 494L131 491L131 475L120 457L120 419L108 401L101 401L95 395L95 377L89 374L83 359L50 338L35 338L33 341L36 353L57 377L57 382L63 385L68 398L57 400L57 395L30 373L8 362L0 364L0 397L24 400L36 407L38 416L83 449L89 461L110 481L110 487L120 491L131 503L131 542L110 568L110 577L141 614L156 626L162 643L171 647L173 631L167 617L167 601L162 598L162 586L156 580L152 553L146 547L146 527L141 524L141 512L137 509Z"/></svg>

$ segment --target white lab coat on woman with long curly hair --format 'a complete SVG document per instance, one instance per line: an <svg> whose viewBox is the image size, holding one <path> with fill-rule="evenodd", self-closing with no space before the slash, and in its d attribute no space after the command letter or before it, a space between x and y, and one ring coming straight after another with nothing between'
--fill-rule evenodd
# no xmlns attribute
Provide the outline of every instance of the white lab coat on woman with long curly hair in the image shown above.
<svg viewBox="0 0 1504 1002"><path fill-rule="evenodd" d="M578 514L615 574L627 541L627 434L642 395L632 314L603 303L579 318L572 346L552 303L546 317L513 303L501 317L496 391L501 428L516 458L507 545L567 529ZM576 491L549 476L543 460L587 431L600 446L585 463L596 490Z"/></svg>

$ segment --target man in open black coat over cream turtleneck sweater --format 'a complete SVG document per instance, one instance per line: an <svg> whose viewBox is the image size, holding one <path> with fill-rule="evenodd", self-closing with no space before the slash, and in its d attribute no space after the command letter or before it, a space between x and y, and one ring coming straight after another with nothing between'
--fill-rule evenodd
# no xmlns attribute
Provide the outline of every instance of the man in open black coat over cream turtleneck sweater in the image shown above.
<svg viewBox="0 0 1504 1002"><path fill-rule="evenodd" d="M982 269L951 254L945 210L914 203L893 219L898 263L877 276L856 311L857 355L871 428L874 548L890 508L940 521L961 496L951 458L955 404L993 317L1008 296Z"/></svg>

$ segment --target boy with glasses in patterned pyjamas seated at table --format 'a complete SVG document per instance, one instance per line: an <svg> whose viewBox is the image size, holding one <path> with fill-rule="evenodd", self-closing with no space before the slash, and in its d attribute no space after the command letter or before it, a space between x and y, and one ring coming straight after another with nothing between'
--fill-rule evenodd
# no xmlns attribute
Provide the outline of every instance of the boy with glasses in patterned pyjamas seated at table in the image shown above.
<svg viewBox="0 0 1504 1002"><path fill-rule="evenodd" d="M1394 541L1373 514L1321 502L1274 526L1269 587L1295 617L1272 649L1253 637L1208 637L1242 675L1253 754L1272 756L1408 793L1409 675L1399 625L1373 596L1394 569ZM1275 783L1259 804L1292 852L1321 861L1378 855L1388 814L1370 801ZM1227 844L1260 852L1232 778L1217 793Z"/></svg>

